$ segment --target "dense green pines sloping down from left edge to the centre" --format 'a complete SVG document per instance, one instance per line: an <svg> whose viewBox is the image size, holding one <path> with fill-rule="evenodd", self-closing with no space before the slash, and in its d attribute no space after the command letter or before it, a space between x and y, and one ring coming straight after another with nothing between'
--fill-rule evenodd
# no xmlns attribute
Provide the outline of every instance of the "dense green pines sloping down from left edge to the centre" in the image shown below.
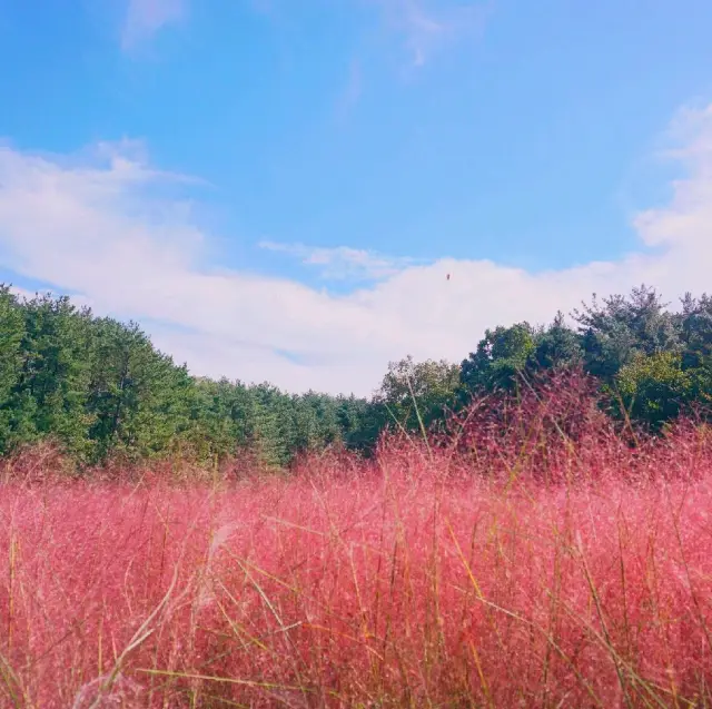
<svg viewBox="0 0 712 709"><path fill-rule="evenodd" d="M366 400L191 377L135 323L0 286L0 454L52 439L80 463L171 454L268 466L328 445L368 449Z"/></svg>

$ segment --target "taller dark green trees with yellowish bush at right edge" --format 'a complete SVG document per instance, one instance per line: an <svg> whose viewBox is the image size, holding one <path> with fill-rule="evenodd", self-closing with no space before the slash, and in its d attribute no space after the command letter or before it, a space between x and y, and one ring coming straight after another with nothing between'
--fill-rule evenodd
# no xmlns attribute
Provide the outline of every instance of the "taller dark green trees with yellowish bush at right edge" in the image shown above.
<svg viewBox="0 0 712 709"><path fill-rule="evenodd" d="M512 390L535 371L583 366L604 391L620 393L627 414L660 427L695 402L712 403L712 298L688 295L671 313L654 288L633 288L562 313L546 328L527 323L487 331L462 364L465 400ZM622 412L619 412L622 413Z"/></svg>

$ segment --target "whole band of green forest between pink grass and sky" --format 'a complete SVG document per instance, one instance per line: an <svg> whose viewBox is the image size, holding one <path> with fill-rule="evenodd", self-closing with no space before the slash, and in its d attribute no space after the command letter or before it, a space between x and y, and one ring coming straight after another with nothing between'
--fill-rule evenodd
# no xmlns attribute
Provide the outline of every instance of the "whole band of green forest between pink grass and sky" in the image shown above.
<svg viewBox="0 0 712 709"><path fill-rule="evenodd" d="M250 451L266 465L326 446L368 452L387 426L423 431L473 396L514 392L542 372L581 367L613 416L651 429L712 395L712 298L676 311L646 286L547 326L488 329L459 365L390 363L370 398L286 394L267 383L190 376L135 323L67 297L20 299L0 285L0 454L51 440L80 464ZM473 343L474 344L474 343ZM344 383L348 387L348 383Z"/></svg>

